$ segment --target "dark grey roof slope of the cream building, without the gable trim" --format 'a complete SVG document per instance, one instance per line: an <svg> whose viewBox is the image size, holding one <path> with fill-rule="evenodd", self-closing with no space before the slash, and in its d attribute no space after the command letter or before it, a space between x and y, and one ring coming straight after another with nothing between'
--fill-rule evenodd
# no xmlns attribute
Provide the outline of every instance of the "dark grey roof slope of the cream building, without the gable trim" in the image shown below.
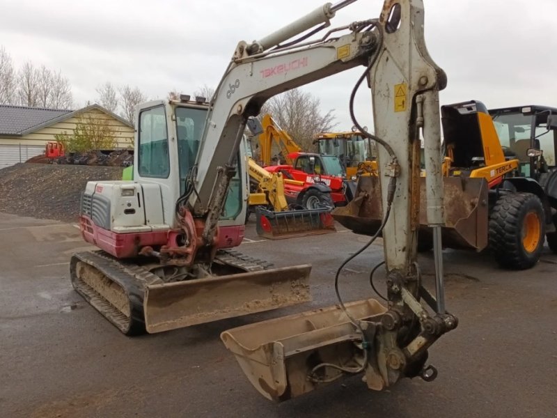
<svg viewBox="0 0 557 418"><path fill-rule="evenodd" d="M71 110L0 104L0 134L21 135L26 130L71 112Z"/></svg>

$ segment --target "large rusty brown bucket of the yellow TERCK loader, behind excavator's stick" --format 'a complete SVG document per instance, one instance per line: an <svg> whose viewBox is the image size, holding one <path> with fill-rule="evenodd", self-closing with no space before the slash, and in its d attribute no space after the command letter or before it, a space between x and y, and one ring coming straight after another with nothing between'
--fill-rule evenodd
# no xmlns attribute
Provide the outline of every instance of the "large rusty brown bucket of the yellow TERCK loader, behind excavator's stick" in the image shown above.
<svg viewBox="0 0 557 418"><path fill-rule="evenodd" d="M432 231L427 226L425 178L421 178L420 226L418 240L432 242ZM442 227L444 247L472 248L481 251L487 247L488 207L487 182L483 178L444 177L445 225ZM373 235L382 219L379 178L361 176L358 179L356 199L347 206L336 208L334 219L355 233Z"/></svg>

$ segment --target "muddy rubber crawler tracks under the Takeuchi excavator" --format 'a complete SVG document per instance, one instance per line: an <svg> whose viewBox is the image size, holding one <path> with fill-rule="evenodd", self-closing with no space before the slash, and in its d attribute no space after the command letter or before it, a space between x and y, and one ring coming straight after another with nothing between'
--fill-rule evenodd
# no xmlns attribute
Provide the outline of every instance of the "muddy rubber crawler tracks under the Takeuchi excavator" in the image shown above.
<svg viewBox="0 0 557 418"><path fill-rule="evenodd" d="M238 251L221 250L217 252L217 261L233 265L246 272L267 270L272 267L267 261L244 256ZM77 263L81 261L90 265L114 281L123 289L130 302L130 318L105 300L95 289L77 278ZM75 291L91 304L99 313L125 335L134 336L145 332L143 315L143 295L146 284L160 282L161 279L140 265L126 263L114 258L104 251L86 251L76 253L70 261L70 279Z"/></svg>

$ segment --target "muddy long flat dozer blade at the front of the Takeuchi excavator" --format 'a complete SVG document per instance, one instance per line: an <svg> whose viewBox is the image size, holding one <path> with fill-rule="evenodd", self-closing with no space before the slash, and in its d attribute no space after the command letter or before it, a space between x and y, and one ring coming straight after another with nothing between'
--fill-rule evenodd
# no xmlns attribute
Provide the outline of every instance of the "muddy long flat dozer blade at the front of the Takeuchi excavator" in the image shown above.
<svg viewBox="0 0 557 418"><path fill-rule="evenodd" d="M311 265L146 286L147 332L207 323L311 301Z"/></svg>

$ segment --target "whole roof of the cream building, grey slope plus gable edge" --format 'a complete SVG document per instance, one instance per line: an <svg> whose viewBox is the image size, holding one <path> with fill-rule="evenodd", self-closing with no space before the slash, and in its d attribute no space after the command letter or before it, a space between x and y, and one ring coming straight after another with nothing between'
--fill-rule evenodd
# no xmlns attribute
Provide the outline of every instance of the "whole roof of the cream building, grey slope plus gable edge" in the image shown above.
<svg viewBox="0 0 557 418"><path fill-rule="evenodd" d="M43 127L54 125L54 123L65 121L91 109L99 109L109 114L124 125L133 125L117 114L104 109L99 104L91 104L77 110L43 109L40 107L13 106L11 104L0 104L0 135L15 135L22 137Z"/></svg>

